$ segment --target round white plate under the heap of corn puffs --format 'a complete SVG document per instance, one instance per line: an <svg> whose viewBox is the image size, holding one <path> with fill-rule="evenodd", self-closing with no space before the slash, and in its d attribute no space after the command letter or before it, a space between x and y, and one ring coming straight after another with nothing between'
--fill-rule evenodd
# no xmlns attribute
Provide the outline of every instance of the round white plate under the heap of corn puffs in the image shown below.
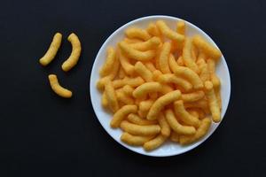
<svg viewBox="0 0 266 177"><path fill-rule="evenodd" d="M165 142L160 148L157 150L153 150L150 152L145 151L142 147L132 147L124 142L121 142L120 136L121 136L121 129L113 129L109 126L110 120L112 119L112 115L107 113L101 106L101 93L96 88L96 83L99 79L99 68L101 65L104 64L104 61L106 59L106 48L108 46L115 46L117 42L120 42L124 37L124 31L128 27L142 27L145 28L149 24L149 22L155 22L158 19L164 20L169 27L174 29L176 27L176 22L178 18L175 17L169 17L169 16L149 16L144 17L140 19L135 19L133 21L130 21L126 25L120 27L115 32L113 32L112 35L108 37L106 42L102 45L101 49L98 51L98 55L94 61L94 64L92 66L92 71L90 74L90 100L92 103L92 107L94 109L94 112L96 113L99 122L101 125L106 129L106 132L113 137L113 139L116 142L119 142L122 146L128 148L129 150L133 150L137 153L147 155L147 156L154 156L154 157L167 157L167 156L174 156L181 153L184 153L188 150L192 150L195 147L199 146L200 143L204 142L210 135L212 135L215 131L215 129L219 126L220 123L215 124L213 123L210 127L207 135L204 136L204 138L200 139L198 142L194 142L187 146L180 146L176 144L175 142ZM212 43L215 45L215 42L207 35L205 34L199 27L196 27L192 25L192 23L186 21L186 35L196 35L199 34L203 36L207 42ZM215 45L216 46L216 45ZM228 70L228 67L226 65L225 59L222 57L220 62L216 66L216 73L221 79L222 88L221 88L221 94L222 94L222 101L223 101L223 108L222 108L222 119L226 112L227 106L229 104L230 94L231 94L231 81L230 81L230 73Z"/></svg>

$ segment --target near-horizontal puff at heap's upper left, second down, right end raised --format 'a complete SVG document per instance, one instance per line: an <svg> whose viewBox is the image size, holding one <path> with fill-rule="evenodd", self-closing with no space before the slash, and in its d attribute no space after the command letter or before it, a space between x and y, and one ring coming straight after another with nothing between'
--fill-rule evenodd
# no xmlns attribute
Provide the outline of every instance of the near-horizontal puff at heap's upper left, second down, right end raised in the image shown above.
<svg viewBox="0 0 266 177"><path fill-rule="evenodd" d="M145 42L130 43L129 46L135 50L145 51L145 50L155 50L160 45L159 37L152 37Z"/></svg>

